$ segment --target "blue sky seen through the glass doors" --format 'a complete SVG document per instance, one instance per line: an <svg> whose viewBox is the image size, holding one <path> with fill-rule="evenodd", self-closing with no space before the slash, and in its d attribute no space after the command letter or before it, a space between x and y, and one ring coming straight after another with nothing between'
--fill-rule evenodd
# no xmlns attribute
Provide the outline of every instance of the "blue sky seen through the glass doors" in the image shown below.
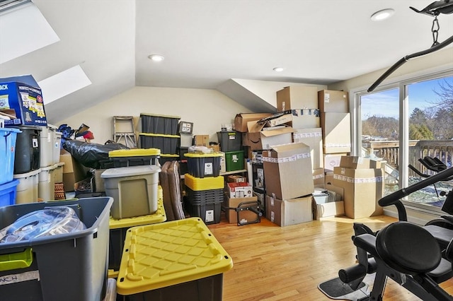
<svg viewBox="0 0 453 301"><path fill-rule="evenodd" d="M430 102L439 100L439 96L434 90L439 90L439 83L444 83L445 79L449 83L453 83L453 76L449 76L409 85L409 112L411 113L415 107L424 110L432 106ZM379 116L398 119L398 107L399 95L397 88L366 95L362 97L362 118L367 119L368 117Z"/></svg>

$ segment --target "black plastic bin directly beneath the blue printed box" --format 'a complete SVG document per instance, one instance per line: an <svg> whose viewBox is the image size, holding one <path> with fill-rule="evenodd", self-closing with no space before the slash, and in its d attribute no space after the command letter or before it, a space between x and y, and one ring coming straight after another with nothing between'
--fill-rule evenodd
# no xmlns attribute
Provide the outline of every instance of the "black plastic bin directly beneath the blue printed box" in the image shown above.
<svg viewBox="0 0 453 301"><path fill-rule="evenodd" d="M40 168L40 127L20 126L17 134L14 175Z"/></svg>

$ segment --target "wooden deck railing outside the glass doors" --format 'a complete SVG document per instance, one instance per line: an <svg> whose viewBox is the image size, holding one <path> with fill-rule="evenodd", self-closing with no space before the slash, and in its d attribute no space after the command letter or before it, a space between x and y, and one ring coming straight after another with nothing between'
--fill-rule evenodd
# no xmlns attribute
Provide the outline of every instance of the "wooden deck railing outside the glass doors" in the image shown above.
<svg viewBox="0 0 453 301"><path fill-rule="evenodd" d="M398 168L399 141L369 141L362 143L362 146L369 153L374 153L378 158L387 161L387 164ZM447 167L453 163L453 140L411 140L409 141L409 164L418 168L423 173L430 175L428 171L418 162L419 158L425 156L439 158ZM412 171L411 171L412 172Z"/></svg>

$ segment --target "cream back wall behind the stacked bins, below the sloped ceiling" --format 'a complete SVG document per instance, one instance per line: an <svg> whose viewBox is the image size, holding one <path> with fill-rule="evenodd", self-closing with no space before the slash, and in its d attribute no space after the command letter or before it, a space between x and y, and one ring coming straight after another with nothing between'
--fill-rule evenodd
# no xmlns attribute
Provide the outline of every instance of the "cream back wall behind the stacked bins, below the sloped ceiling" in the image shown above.
<svg viewBox="0 0 453 301"><path fill-rule="evenodd" d="M209 134L210 141L217 141L221 124L234 123L237 113L247 112L251 111L217 90L134 87L54 125L78 129L86 124L93 132L92 142L103 144L113 139L113 116L136 117L135 131L139 132L140 113L172 115L193 122L193 134Z"/></svg>

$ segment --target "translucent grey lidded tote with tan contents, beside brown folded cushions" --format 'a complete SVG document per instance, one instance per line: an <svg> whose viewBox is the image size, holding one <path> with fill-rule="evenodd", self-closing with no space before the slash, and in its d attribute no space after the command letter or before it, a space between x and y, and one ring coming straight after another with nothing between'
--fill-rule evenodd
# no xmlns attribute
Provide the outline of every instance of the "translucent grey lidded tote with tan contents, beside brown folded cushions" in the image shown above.
<svg viewBox="0 0 453 301"><path fill-rule="evenodd" d="M139 165L105 170L105 194L113 197L113 218L146 216L157 211L157 187L160 167Z"/></svg>

